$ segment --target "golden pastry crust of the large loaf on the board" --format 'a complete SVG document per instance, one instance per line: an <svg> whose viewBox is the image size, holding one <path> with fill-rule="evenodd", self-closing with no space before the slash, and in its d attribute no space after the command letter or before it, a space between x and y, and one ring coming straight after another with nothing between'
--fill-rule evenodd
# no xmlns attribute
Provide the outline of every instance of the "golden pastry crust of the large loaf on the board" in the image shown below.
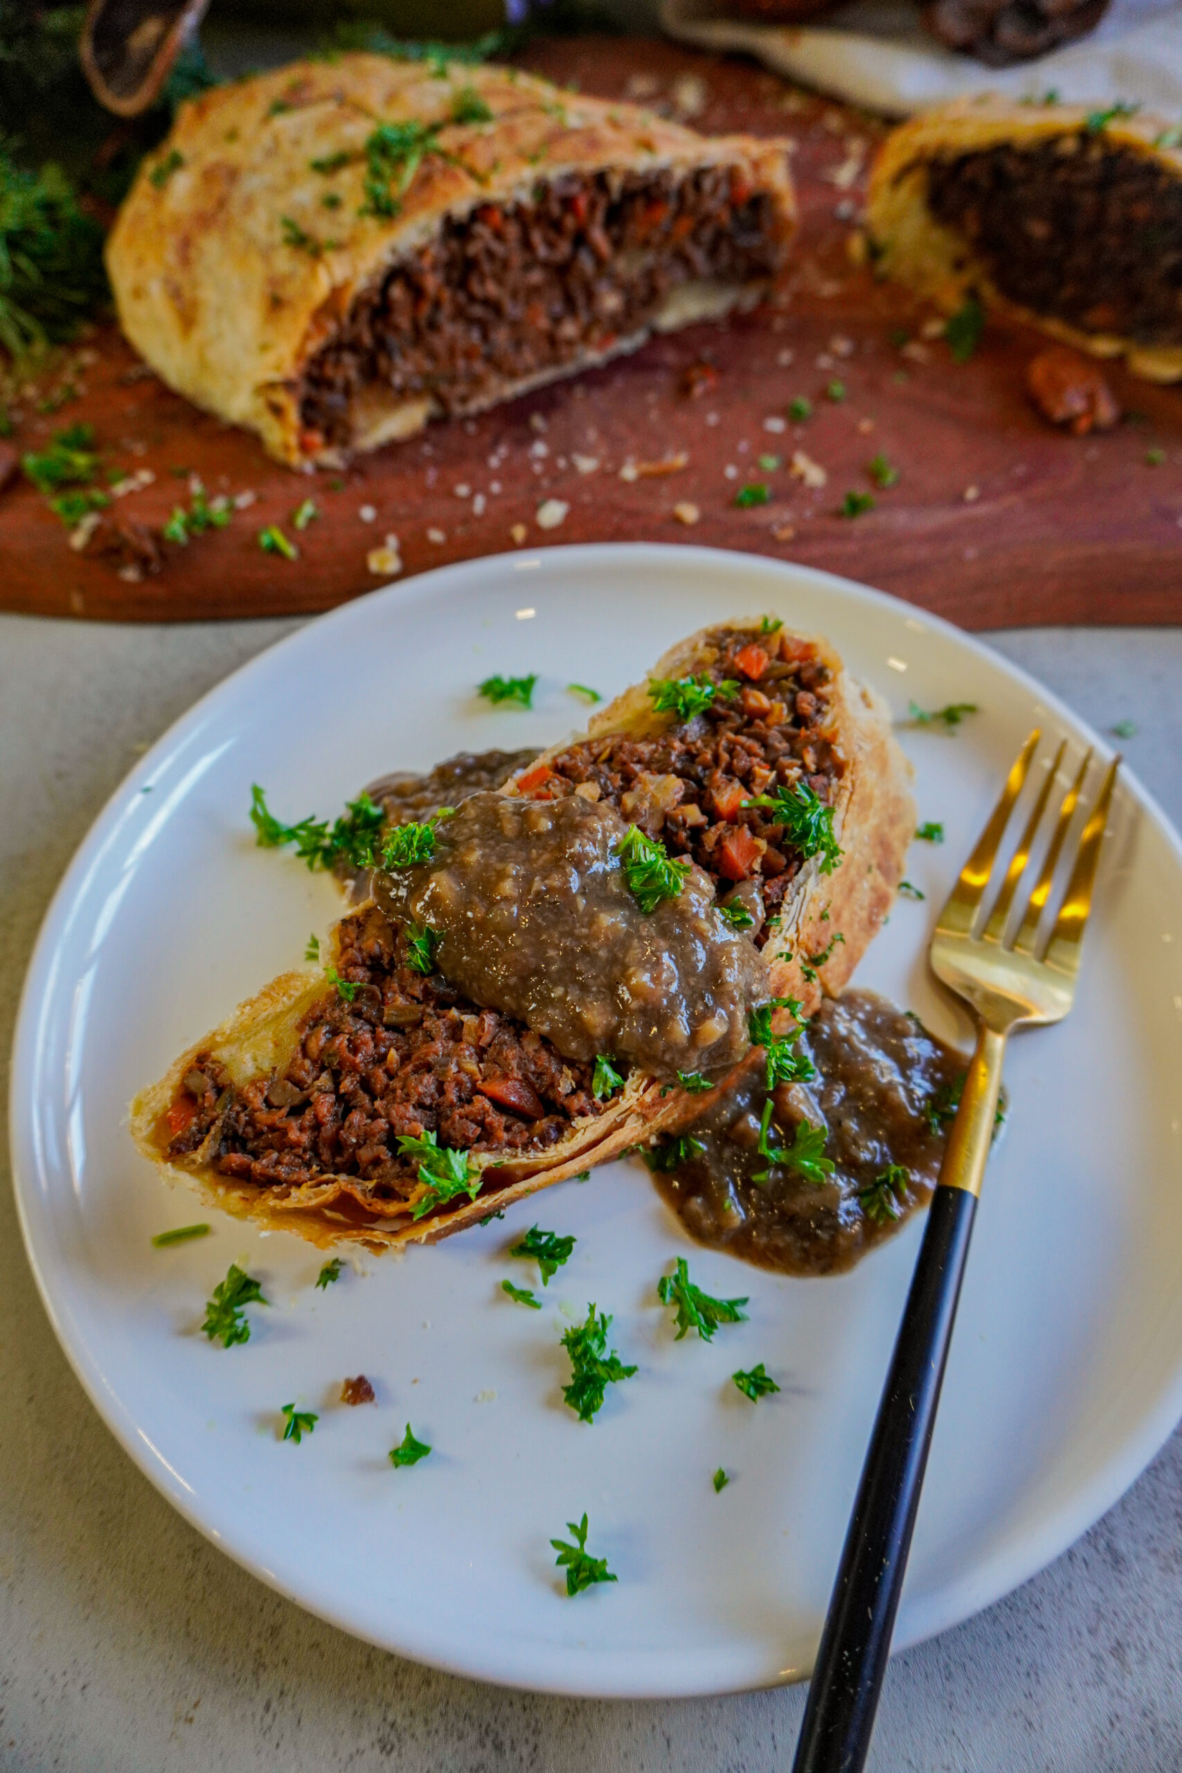
<svg viewBox="0 0 1182 1773"><path fill-rule="evenodd" d="M491 121L447 122L438 135L443 152L422 158L397 215L362 215L374 128L439 124L461 94L475 94L470 108L487 108ZM796 222L787 149L753 137L704 138L634 105L571 96L507 67L447 64L439 78L431 64L383 55L296 62L181 106L119 213L106 266L124 333L172 388L257 431L280 461L328 461L335 454L301 434L303 369L354 298L427 245L445 216L512 202L539 177L723 165L773 197L787 239ZM349 158L331 176L312 168L333 156ZM337 209L323 207L328 191L340 195ZM314 250L285 239L284 218ZM673 294L679 312L670 310L668 323L695 317L691 291L682 285ZM714 312L741 294L698 289ZM549 372L530 385L542 379ZM493 397L525 387L505 385ZM408 436L431 413L429 399L388 399L358 447Z"/></svg>

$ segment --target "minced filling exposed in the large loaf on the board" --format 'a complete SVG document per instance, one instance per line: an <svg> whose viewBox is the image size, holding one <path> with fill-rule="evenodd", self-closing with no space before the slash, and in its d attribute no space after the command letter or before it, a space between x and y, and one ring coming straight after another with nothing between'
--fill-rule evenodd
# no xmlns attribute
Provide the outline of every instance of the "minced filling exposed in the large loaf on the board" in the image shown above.
<svg viewBox="0 0 1182 1773"><path fill-rule="evenodd" d="M783 252L773 199L734 167L539 181L445 220L354 301L305 372L303 429L347 445L365 385L464 411L643 332L677 284L766 280Z"/></svg>

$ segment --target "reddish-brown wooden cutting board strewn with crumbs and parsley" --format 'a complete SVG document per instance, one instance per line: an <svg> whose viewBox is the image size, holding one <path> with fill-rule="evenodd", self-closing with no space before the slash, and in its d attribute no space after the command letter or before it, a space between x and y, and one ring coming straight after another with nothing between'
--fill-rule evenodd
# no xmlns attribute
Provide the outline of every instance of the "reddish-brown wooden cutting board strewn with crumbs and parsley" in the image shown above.
<svg viewBox="0 0 1182 1773"><path fill-rule="evenodd" d="M1024 394L1038 335L991 321L962 365L943 339L923 337L930 314L877 284L849 250L883 124L748 62L666 43L553 41L526 60L707 133L792 137L803 225L787 301L657 339L482 418L432 426L342 475L271 463L252 436L170 394L103 330L73 372L76 397L55 413L27 402L16 447L39 449L53 429L92 422L112 465L154 475L119 504L147 525L188 504L190 475L209 495L255 498L225 530L165 544L159 576L129 583L74 553L41 495L12 484L0 495L0 606L112 621L326 610L388 578L367 555L395 534L404 573L514 546L704 543L867 580L968 628L1182 621L1182 388L1113 371L1127 420L1072 438ZM844 399L826 394L835 381ZM799 395L813 415L792 424ZM51 397L53 387L39 390L43 402ZM789 473L796 450L824 470L824 486ZM898 470L890 489L868 475L879 454ZM760 456L782 466L760 466ZM673 461L682 463L673 472L649 472ZM735 505L755 482L769 504ZM840 516L847 491L872 493L874 509ZM296 534L291 518L305 498L319 516ZM551 500L551 514L567 507L565 516L539 527ZM698 521L679 521L679 505L696 507ZM271 523L298 543L298 560L261 550L259 530Z"/></svg>

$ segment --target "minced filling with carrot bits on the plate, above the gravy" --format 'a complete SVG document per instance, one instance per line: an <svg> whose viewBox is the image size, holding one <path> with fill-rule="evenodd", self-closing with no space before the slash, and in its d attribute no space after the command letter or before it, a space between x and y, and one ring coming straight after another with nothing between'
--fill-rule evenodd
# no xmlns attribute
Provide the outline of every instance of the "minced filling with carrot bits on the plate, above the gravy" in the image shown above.
<svg viewBox="0 0 1182 1773"><path fill-rule="evenodd" d="M688 718L649 738L583 739L526 769L517 791L618 807L670 856L705 869L762 949L805 862L817 855L828 872L840 855L828 810L844 768L826 736L831 672L812 642L778 629L719 629L711 642L718 658L693 681L649 686L654 707Z"/></svg>

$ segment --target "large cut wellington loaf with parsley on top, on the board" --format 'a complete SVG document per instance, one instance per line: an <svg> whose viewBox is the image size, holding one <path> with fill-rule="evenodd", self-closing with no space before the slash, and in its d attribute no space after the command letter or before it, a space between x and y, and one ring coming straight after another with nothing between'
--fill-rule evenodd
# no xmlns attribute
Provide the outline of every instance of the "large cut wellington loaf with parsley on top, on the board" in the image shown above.
<svg viewBox="0 0 1182 1773"><path fill-rule="evenodd" d="M510 67L298 62L181 106L106 262L172 388L338 465L757 300L787 152Z"/></svg>

